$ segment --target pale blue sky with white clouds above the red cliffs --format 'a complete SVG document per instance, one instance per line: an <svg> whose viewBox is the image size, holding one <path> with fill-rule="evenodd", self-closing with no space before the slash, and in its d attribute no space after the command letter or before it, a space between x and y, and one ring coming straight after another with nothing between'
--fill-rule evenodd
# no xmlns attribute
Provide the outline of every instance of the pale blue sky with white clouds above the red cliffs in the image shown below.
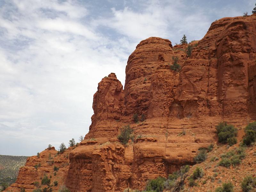
<svg viewBox="0 0 256 192"><path fill-rule="evenodd" d="M93 94L150 36L200 40L255 0L0 0L0 154L32 156L89 131Z"/></svg>

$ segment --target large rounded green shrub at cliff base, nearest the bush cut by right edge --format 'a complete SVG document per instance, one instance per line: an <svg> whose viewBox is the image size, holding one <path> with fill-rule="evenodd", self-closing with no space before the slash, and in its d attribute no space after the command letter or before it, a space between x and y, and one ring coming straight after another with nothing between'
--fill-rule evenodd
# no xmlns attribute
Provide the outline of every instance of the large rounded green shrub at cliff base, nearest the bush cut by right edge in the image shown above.
<svg viewBox="0 0 256 192"><path fill-rule="evenodd" d="M216 126L218 141L220 143L227 143L229 138L237 136L237 129L234 125L221 122ZM235 142L234 139L229 140L231 143ZM234 143L233 143L234 144Z"/></svg>

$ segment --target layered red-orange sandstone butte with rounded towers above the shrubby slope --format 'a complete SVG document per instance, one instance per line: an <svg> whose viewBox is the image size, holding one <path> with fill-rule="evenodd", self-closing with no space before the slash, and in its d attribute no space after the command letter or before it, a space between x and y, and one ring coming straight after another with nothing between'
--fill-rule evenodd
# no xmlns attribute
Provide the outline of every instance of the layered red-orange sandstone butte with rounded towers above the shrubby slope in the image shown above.
<svg viewBox="0 0 256 192"><path fill-rule="evenodd" d="M187 44L172 46L159 37L141 41L127 61L124 90L115 73L99 83L90 131L79 146L57 156L49 148L39 158L29 157L7 190L32 191L45 173L72 192L142 190L148 179L194 164L198 148L216 142L220 121L237 127L254 121L256 14L217 20L190 45L187 57ZM180 72L170 70L173 56L179 58ZM135 113L144 114L146 121L134 124ZM128 124L135 140L124 146L117 135ZM186 135L179 136L182 129ZM142 137L136 139L138 135ZM49 153L54 164L48 163ZM56 176L54 165L60 167Z"/></svg>

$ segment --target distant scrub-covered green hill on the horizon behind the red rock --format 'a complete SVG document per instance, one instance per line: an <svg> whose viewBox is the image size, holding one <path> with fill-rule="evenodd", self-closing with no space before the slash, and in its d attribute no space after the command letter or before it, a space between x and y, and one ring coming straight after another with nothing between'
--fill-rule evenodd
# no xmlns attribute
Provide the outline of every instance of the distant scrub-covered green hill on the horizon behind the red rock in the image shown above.
<svg viewBox="0 0 256 192"><path fill-rule="evenodd" d="M17 178L19 169L24 166L27 156L0 155L0 179Z"/></svg>

